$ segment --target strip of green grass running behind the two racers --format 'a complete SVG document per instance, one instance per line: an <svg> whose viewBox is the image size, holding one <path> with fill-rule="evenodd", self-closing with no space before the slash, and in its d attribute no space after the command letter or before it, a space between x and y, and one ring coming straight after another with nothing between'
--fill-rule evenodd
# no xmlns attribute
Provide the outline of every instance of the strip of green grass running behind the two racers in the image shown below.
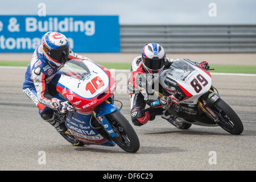
<svg viewBox="0 0 256 182"><path fill-rule="evenodd" d="M0 66L27 67L29 61L0 61ZM130 63L98 63L108 69L130 69ZM214 68L211 73L247 73L256 74L256 65L218 65L210 64Z"/></svg>

